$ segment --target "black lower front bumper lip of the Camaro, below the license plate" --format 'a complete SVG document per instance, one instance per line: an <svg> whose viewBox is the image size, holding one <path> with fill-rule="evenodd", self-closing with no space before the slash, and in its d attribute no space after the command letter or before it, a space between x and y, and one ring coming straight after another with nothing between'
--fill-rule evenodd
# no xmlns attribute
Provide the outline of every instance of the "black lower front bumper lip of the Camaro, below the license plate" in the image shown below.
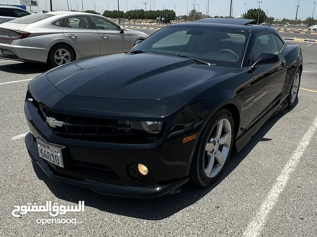
<svg viewBox="0 0 317 237"><path fill-rule="evenodd" d="M121 197L156 198L173 191L174 189L180 187L189 180L189 177L187 176L164 185L157 184L152 186L140 187L106 184L63 175L54 170L53 167L48 164L48 162L46 162L38 155L38 151L32 142L32 136L33 135L31 134L31 132L29 132L25 136L25 145L27 151L32 159L32 162L37 163L50 178L62 181L64 183L89 188L99 194Z"/></svg>

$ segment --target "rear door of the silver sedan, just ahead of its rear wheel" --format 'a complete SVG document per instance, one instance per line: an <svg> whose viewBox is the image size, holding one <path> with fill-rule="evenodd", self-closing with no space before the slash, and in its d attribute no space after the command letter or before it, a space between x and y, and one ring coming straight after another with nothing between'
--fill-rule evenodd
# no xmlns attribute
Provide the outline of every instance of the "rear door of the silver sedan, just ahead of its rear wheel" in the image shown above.
<svg viewBox="0 0 317 237"><path fill-rule="evenodd" d="M63 27L63 34L83 56L100 55L101 39L87 16L67 17Z"/></svg>

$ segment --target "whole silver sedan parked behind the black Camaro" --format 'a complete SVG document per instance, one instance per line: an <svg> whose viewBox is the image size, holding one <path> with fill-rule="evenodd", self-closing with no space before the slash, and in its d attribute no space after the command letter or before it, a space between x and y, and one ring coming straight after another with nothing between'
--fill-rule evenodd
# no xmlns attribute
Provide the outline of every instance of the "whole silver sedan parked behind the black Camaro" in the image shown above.
<svg viewBox="0 0 317 237"><path fill-rule="evenodd" d="M83 12L36 13L0 25L0 58L48 63L128 51L147 34Z"/></svg>

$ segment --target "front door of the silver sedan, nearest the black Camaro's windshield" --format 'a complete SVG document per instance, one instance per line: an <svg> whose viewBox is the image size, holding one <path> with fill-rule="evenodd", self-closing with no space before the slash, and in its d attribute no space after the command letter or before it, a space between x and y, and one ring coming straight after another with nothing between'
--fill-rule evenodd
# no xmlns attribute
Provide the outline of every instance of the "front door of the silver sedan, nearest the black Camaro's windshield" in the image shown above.
<svg viewBox="0 0 317 237"><path fill-rule="evenodd" d="M130 37L113 22L98 16L90 16L101 39L101 55L123 53L130 49Z"/></svg>

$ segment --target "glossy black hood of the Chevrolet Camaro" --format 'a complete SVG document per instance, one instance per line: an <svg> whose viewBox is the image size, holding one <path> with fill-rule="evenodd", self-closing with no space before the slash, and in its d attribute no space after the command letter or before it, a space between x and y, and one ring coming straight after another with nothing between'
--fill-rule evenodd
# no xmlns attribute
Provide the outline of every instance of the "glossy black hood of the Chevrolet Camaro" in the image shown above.
<svg viewBox="0 0 317 237"><path fill-rule="evenodd" d="M122 53L75 61L46 76L67 95L157 100L233 70L170 55Z"/></svg>

